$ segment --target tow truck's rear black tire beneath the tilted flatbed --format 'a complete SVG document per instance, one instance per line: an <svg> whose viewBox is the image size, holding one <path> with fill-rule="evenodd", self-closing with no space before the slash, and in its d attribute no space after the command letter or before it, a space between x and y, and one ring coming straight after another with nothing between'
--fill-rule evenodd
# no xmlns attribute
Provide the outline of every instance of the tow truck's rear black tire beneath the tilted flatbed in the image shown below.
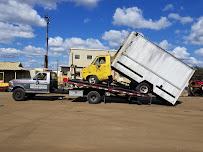
<svg viewBox="0 0 203 152"><path fill-rule="evenodd" d="M101 95L97 91L90 91L87 94L87 100L90 104L101 103Z"/></svg>

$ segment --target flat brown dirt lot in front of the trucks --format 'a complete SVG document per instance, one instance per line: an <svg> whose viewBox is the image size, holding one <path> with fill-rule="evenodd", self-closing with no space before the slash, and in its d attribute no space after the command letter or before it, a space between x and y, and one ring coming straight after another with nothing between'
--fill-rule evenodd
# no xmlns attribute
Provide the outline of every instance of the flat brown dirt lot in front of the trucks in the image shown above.
<svg viewBox="0 0 203 152"><path fill-rule="evenodd" d="M180 101L175 107L46 97L15 102L0 93L0 151L202 152L203 98Z"/></svg>

